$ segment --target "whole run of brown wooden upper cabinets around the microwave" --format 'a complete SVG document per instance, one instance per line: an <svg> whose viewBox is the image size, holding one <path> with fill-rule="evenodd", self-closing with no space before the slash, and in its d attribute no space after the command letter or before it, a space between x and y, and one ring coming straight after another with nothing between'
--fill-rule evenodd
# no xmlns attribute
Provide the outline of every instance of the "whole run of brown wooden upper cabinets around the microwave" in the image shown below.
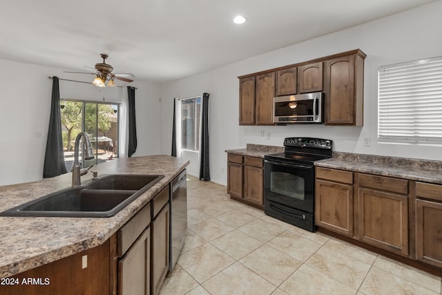
<svg viewBox="0 0 442 295"><path fill-rule="evenodd" d="M240 125L273 125L273 97L325 93L325 124L363 126L364 59L351 50L240 79Z"/></svg>

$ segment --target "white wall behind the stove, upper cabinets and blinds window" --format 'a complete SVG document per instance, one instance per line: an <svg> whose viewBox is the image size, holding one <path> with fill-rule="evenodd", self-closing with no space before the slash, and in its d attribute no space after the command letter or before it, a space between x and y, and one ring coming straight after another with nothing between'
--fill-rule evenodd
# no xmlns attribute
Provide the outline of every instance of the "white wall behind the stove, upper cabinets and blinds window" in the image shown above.
<svg viewBox="0 0 442 295"><path fill-rule="evenodd" d="M191 97L207 92L210 93L210 165L214 182L226 184L227 154L224 150L244 148L247 143L282 146L283 139L289 136L334 140L335 151L442 160L440 146L377 143L377 68L442 55L442 39L439 37L441 11L442 1L436 1L162 85L162 153L170 153L173 97ZM323 25L327 26L326 20L323 20ZM363 127L238 125L238 76L356 48L367 54ZM261 137L261 131L265 131L264 137ZM369 137L371 146L363 146L364 137ZM189 170L195 171L196 167L198 163L193 161Z"/></svg>

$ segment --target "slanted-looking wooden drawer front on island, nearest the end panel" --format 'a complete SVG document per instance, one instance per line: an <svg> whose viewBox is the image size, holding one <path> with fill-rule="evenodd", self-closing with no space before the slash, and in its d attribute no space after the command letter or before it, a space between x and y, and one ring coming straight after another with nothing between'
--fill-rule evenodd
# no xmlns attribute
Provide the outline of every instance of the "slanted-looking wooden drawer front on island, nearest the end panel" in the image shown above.
<svg viewBox="0 0 442 295"><path fill-rule="evenodd" d="M131 220L126 222L126 225L118 230L118 257L122 257L126 253L149 223L151 223L151 203L146 204Z"/></svg>

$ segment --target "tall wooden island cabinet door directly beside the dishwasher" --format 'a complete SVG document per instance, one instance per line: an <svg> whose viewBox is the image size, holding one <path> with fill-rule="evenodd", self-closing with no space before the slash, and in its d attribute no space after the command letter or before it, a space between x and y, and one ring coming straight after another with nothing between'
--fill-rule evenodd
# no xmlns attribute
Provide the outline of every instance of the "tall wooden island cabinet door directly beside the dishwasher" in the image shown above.
<svg viewBox="0 0 442 295"><path fill-rule="evenodd" d="M151 294L160 293L169 269L169 204L151 222Z"/></svg>

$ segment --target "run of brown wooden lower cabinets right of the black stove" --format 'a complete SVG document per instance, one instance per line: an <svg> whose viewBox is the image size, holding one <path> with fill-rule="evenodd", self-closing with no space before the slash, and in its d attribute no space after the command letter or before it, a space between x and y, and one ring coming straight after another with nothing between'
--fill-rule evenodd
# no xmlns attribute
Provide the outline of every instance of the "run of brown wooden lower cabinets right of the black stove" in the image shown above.
<svg viewBox="0 0 442 295"><path fill-rule="evenodd" d="M316 167L318 231L442 275L442 185Z"/></svg>

